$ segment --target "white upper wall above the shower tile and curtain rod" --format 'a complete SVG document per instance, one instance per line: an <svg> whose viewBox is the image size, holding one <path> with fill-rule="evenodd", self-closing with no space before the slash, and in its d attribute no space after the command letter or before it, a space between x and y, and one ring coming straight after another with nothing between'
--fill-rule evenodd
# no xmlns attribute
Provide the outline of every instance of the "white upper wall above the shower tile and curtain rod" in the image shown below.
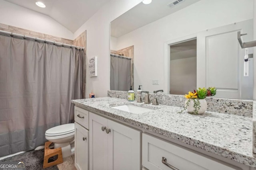
<svg viewBox="0 0 256 170"><path fill-rule="evenodd" d="M4 0L0 0L0 23L56 37L74 39L71 31L49 16Z"/></svg>

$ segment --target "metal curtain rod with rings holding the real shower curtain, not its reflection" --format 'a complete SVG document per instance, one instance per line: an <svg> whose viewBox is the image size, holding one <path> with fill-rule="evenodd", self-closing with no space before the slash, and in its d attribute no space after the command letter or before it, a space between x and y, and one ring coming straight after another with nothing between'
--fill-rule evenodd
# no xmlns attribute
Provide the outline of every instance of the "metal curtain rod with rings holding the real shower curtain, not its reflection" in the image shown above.
<svg viewBox="0 0 256 170"><path fill-rule="evenodd" d="M37 38L37 37L30 37L30 36L25 36L25 35L22 35L22 34L17 34L17 33L12 33L12 32L8 32L8 31L2 31L0 30L0 33L4 33L4 34L7 34L7 35L10 35L11 37L13 37L14 35L15 36L18 36L18 37L23 37L24 39L26 38L30 38L30 39L34 39L35 41L39 40L39 41L44 41L44 43L52 43L53 45L61 45L62 47L76 47L78 49L84 49L84 47L78 47L78 46L75 46L75 45L70 45L70 44L64 44L64 43L59 43L59 42L56 42L56 41L50 41L50 40L46 40L46 39L41 39L41 38Z"/></svg>

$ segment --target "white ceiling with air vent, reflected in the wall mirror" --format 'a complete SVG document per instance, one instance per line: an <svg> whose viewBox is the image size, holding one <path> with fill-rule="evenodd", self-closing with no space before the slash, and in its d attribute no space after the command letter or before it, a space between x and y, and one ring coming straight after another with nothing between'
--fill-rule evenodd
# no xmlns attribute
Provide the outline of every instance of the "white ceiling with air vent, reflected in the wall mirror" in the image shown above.
<svg viewBox="0 0 256 170"><path fill-rule="evenodd" d="M174 1L176 0L152 0L151 4L148 5L141 2L111 22L111 36L118 38L200 0L184 0L184 2L170 8L168 4Z"/></svg>

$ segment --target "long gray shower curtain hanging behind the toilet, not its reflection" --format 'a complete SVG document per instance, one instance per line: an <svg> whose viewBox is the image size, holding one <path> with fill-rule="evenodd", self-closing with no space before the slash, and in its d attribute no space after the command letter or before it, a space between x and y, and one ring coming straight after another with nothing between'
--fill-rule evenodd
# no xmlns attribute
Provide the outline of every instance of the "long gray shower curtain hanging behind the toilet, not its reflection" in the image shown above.
<svg viewBox="0 0 256 170"><path fill-rule="evenodd" d="M84 50L0 35L0 156L44 145L45 131L74 121Z"/></svg>

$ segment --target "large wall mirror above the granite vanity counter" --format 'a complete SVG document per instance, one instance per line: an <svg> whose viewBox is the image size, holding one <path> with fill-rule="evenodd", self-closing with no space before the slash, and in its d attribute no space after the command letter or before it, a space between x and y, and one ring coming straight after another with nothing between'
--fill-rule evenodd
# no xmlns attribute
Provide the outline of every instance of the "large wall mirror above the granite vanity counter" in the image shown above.
<svg viewBox="0 0 256 170"><path fill-rule="evenodd" d="M253 0L140 3L111 22L110 88L184 95L214 86L218 98L252 100L238 31L253 40Z"/></svg>

